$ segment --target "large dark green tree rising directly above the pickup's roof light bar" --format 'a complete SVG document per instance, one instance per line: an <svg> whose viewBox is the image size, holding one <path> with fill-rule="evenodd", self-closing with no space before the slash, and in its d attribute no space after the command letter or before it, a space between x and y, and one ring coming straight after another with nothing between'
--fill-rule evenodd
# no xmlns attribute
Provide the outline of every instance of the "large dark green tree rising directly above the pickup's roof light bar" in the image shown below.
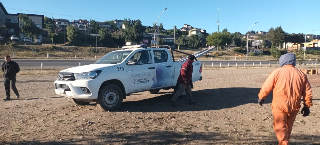
<svg viewBox="0 0 320 145"><path fill-rule="evenodd" d="M124 19L125 29L121 29L121 37L124 38L125 42L139 43L143 39L143 27L140 21Z"/></svg>

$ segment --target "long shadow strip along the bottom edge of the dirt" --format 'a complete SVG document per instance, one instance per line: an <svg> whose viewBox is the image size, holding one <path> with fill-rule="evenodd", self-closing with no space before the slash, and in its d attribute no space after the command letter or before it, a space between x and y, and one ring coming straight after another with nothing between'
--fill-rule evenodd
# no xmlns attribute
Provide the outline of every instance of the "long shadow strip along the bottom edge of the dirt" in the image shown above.
<svg viewBox="0 0 320 145"><path fill-rule="evenodd" d="M319 136L299 135L294 136L292 145L319 145L316 142ZM19 140L19 139L15 139ZM71 136L69 139L60 140L58 138L50 138L51 141L34 140L34 141L5 141L3 139L0 144L4 145L75 145L75 144L114 144L114 145L168 145L168 144L211 144L211 145L237 145L237 144L254 144L254 145L275 145L278 142L274 136L244 136L231 137L228 134L219 132L177 132L177 131L137 131L136 133L116 133L101 132L100 134ZM59 141L55 141L59 140Z"/></svg>

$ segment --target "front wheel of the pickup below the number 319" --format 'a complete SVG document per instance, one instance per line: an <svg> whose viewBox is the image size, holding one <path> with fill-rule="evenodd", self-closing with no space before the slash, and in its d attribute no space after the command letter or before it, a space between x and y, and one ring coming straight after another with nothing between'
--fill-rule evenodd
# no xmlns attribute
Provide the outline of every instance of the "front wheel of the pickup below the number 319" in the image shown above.
<svg viewBox="0 0 320 145"><path fill-rule="evenodd" d="M122 101L122 90L115 84L107 84L101 86L96 102L100 109L114 111L121 106Z"/></svg>

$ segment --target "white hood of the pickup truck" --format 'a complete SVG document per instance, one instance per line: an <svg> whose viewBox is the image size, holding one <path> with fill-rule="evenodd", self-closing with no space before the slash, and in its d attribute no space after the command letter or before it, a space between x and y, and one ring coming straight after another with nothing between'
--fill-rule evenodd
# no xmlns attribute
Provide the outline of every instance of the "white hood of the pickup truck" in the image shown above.
<svg viewBox="0 0 320 145"><path fill-rule="evenodd" d="M78 66L78 67L73 67L73 68L68 68L61 70L59 73L84 73L84 72L90 72L90 71L95 71L95 70L101 70L101 69L110 69L115 67L117 64L89 64L89 65L84 65L84 66Z"/></svg>

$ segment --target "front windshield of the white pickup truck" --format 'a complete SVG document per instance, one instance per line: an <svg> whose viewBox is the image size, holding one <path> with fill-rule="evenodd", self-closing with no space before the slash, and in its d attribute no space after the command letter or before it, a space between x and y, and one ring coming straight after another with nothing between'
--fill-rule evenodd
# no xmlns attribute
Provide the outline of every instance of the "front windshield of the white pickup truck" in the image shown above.
<svg viewBox="0 0 320 145"><path fill-rule="evenodd" d="M122 62L131 52L132 50L110 52L94 62L94 64L117 64Z"/></svg>

